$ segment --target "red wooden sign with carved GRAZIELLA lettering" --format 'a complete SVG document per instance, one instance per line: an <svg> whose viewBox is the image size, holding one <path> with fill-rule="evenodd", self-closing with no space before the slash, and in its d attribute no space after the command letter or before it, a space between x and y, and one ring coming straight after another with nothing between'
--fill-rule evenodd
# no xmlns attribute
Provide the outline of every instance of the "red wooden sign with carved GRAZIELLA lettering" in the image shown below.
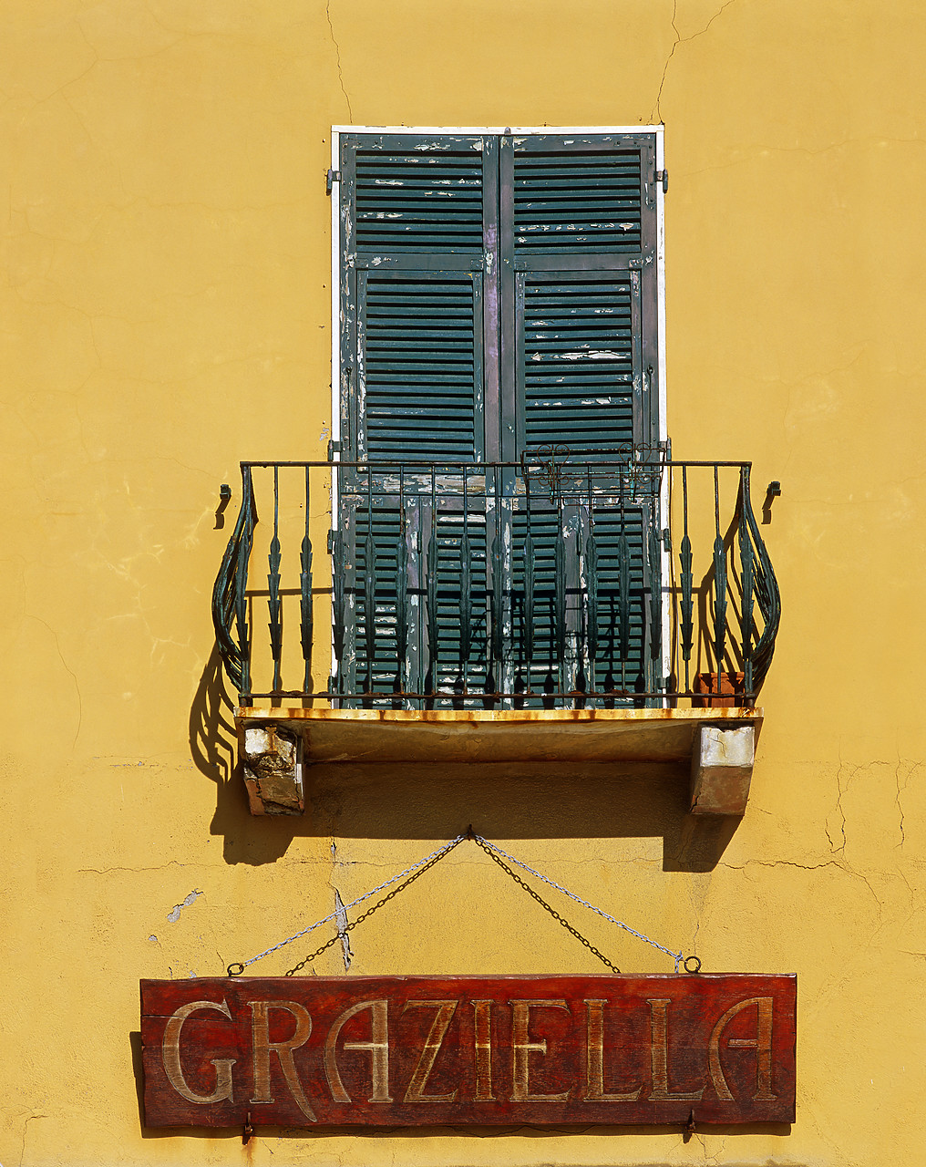
<svg viewBox="0 0 926 1167"><path fill-rule="evenodd" d="M797 978L141 981L148 1126L788 1123Z"/></svg>

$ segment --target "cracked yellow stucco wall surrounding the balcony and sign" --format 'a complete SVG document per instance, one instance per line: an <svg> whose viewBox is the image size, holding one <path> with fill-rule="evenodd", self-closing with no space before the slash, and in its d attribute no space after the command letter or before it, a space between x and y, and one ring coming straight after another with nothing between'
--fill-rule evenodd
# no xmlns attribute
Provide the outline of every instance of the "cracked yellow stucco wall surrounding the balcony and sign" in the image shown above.
<svg viewBox="0 0 926 1167"><path fill-rule="evenodd" d="M920 1162L921 5L7 0L0 43L0 1162ZM213 512L240 457L323 456L351 120L665 121L674 453L784 489L729 840L693 852L675 776L606 767L327 771L306 819L247 815L206 684ZM707 969L797 972L791 1132L142 1132L140 977L219 973L470 820ZM500 880L456 852L351 971L597 971Z"/></svg>

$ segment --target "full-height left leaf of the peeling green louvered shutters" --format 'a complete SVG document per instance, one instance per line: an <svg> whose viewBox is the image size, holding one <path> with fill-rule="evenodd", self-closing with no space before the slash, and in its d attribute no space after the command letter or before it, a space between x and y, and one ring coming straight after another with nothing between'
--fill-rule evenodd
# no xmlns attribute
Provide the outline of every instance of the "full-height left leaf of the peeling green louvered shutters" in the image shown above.
<svg viewBox="0 0 926 1167"><path fill-rule="evenodd" d="M458 499L435 509L422 463L458 476L498 456L497 155L479 135L341 140L342 434L345 456L383 467L372 483L343 471L345 692L485 680L485 513L479 499L465 522ZM390 460L404 466L401 497L388 495Z"/></svg>

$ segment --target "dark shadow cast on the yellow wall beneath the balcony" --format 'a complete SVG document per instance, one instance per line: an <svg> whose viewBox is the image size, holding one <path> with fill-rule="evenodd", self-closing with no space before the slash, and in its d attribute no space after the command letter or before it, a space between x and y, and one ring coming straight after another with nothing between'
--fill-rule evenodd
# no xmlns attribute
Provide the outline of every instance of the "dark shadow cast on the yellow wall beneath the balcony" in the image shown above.
<svg viewBox="0 0 926 1167"><path fill-rule="evenodd" d="M271 864L293 838L662 838L664 871L707 872L738 818L692 816L683 763L318 763L306 813L254 817L236 763L234 703L213 648L190 710L190 752L216 784L210 831L227 864Z"/></svg>

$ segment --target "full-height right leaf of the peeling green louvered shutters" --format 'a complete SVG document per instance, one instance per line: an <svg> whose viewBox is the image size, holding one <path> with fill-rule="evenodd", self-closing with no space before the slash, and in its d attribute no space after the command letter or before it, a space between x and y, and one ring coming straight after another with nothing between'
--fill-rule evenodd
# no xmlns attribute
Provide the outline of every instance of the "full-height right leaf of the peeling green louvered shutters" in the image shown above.
<svg viewBox="0 0 926 1167"><path fill-rule="evenodd" d="M533 628L515 636L514 684L541 693L652 691L661 641L658 489L605 463L626 463L659 436L654 140L505 137L499 156L508 456L542 460L557 447L560 460L568 450L573 466L597 467L577 478L567 467L559 504L532 517ZM591 505L581 502L589 491ZM526 526L515 515L515 547ZM526 621L526 573L515 554L515 623Z"/></svg>

